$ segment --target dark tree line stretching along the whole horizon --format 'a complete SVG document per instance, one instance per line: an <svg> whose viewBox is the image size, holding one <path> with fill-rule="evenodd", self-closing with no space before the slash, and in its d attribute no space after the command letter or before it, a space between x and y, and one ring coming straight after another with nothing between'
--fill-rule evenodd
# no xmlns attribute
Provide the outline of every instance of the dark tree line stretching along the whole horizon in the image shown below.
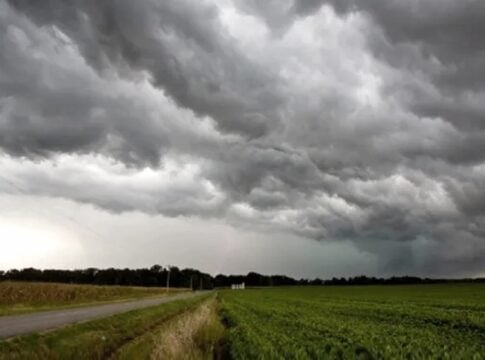
<svg viewBox="0 0 485 360"><path fill-rule="evenodd" d="M367 276L355 276L348 278L332 278L328 280L316 279L294 279L285 275L262 275L250 272L246 275L223 275L212 276L196 269L179 269L176 266L163 267L153 265L150 268L142 269L78 269L78 270L56 270L56 269L12 269L0 271L0 281L39 281L58 282L72 284L93 284L93 285L126 285L126 286L158 286L169 285L176 288L213 289L215 287L230 287L232 284L245 283L250 287L268 286L292 286L292 285L399 285L399 284L431 284L445 282L481 282L484 278L478 279L429 279L413 276L401 276L390 278L376 278Z"/></svg>

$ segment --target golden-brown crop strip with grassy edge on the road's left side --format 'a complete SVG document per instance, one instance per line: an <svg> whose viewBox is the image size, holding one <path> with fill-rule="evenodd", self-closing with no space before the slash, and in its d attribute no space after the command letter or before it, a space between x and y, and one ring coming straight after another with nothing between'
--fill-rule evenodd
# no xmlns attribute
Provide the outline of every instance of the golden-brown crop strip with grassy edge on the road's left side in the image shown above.
<svg viewBox="0 0 485 360"><path fill-rule="evenodd" d="M169 293L187 291L170 289ZM167 294L165 288L0 282L0 316L102 304Z"/></svg>

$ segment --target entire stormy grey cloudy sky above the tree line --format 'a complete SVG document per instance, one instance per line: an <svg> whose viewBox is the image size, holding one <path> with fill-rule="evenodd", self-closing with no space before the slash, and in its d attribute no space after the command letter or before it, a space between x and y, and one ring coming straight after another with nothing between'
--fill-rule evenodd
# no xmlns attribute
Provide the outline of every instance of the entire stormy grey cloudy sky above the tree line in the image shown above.
<svg viewBox="0 0 485 360"><path fill-rule="evenodd" d="M485 274L482 0L0 0L0 268Z"/></svg>

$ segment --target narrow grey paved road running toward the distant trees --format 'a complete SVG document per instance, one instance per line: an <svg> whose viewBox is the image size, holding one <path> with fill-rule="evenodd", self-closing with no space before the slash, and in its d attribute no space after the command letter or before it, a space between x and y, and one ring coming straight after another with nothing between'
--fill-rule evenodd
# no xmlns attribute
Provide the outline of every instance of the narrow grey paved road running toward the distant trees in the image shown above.
<svg viewBox="0 0 485 360"><path fill-rule="evenodd" d="M0 339L44 331L79 321L93 320L130 310L142 309L171 301L199 296L206 291L148 298L121 303L89 306L75 309L43 311L24 315L0 316Z"/></svg>

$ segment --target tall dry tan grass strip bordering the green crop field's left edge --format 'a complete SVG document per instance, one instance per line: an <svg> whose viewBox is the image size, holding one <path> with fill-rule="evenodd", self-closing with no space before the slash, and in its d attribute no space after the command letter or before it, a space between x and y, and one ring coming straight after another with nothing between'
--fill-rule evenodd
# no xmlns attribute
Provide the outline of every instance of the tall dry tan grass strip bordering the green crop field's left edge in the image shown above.
<svg viewBox="0 0 485 360"><path fill-rule="evenodd" d="M158 328L121 347L116 360L214 359L223 353L225 328L219 319L216 296L197 308L170 319Z"/></svg>

